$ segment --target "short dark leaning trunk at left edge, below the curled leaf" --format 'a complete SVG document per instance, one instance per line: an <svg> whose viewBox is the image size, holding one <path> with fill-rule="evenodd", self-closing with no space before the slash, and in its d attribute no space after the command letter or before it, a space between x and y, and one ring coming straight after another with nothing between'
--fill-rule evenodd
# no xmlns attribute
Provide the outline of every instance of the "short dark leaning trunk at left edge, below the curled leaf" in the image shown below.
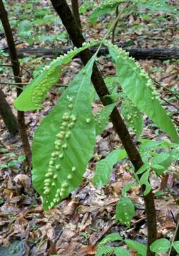
<svg viewBox="0 0 179 256"><path fill-rule="evenodd" d="M8 132L10 134L17 134L18 133L18 122L13 114L11 107L8 105L6 101L6 97L4 92L0 88L0 115L6 124Z"/></svg>

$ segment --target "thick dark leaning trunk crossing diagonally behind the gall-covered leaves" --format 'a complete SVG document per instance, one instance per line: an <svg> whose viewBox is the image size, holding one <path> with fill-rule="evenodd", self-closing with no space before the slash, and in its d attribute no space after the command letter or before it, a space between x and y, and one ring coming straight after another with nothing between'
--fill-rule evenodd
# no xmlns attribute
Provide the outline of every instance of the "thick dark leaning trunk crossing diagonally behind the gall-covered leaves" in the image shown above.
<svg viewBox="0 0 179 256"><path fill-rule="evenodd" d="M67 29L67 32L69 33L71 41L74 43L74 46L78 48L81 47L82 43L85 40L81 34L79 27L76 26L76 22L74 21L74 17L71 14L67 1L51 0L51 2L54 6L55 11L57 11L57 14L59 14L62 23ZM83 64L86 64L91 58L90 50L83 50L83 52L80 53L80 57ZM100 97L101 102L103 103L103 105L105 105L104 96L109 95L109 91L96 64L93 65L93 74L91 76L91 80L96 89L96 92L98 93L98 96ZM110 118L118 136L122 141L123 146L125 147L125 150L127 151L127 154L134 166L135 171L137 171L143 165L142 158L129 135L125 122L122 120L122 117L120 115L120 112L118 112L117 107L115 107L112 111ZM144 186L142 186L142 191L144 192ZM154 256L154 252L151 252L149 249L151 243L156 240L156 210L154 206L154 196L152 192L144 196L144 202L146 206L146 219L148 229L147 256Z"/></svg>

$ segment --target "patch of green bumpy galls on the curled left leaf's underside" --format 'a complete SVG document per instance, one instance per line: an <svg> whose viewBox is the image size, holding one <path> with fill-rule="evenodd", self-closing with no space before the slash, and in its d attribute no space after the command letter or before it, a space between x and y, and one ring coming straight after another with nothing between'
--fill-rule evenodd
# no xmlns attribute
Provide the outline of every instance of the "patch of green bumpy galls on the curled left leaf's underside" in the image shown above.
<svg viewBox="0 0 179 256"><path fill-rule="evenodd" d="M47 68L49 70L47 70L47 73L45 74L45 78L42 78L42 80L37 83L37 86L35 86L32 91L31 100L33 103L35 103L35 107L40 107L40 104L43 98L45 97L45 95L47 95L47 92L50 90L52 85L54 85L55 82L57 82L57 80L59 79L57 66L52 65L50 68L49 67L43 68L43 70Z"/></svg>

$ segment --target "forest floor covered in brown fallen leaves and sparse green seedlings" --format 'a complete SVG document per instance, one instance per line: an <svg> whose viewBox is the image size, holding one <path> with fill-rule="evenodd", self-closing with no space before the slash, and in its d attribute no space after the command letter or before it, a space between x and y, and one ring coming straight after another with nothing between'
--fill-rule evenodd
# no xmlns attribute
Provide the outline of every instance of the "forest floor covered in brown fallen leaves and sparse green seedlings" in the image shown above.
<svg viewBox="0 0 179 256"><path fill-rule="evenodd" d="M21 2L21 4L20 4ZM50 1L40 1L42 6L36 1L37 11L49 9ZM12 6L16 6L13 8ZM19 4L21 6L19 6ZM15 21L15 14L18 16L32 15L28 12L28 7L23 7L24 1L12 1L8 14ZM34 4L34 3L33 3ZM175 4L175 3L174 3ZM39 7L40 6L40 7ZM24 9L23 9L24 8ZM50 8L55 15L52 6ZM108 21L111 17L103 16L96 26L91 26L87 17L91 11L81 15L83 34L86 40L92 38L102 38L108 28ZM23 19L23 18L22 18ZM30 16L28 18L30 20ZM58 18L57 18L58 19ZM49 22L49 21L48 21ZM50 21L51 22L51 21ZM71 42L65 34L62 23L50 23L45 25L40 23L38 33L51 36L49 39L42 39L40 36L26 41L21 35L21 31L16 34L18 27L13 22L13 33L21 47L42 47L55 48L60 46L71 46ZM33 28L34 38L36 28ZM46 31L45 31L46 30ZM59 33L61 38L52 40L55 33ZM46 34L45 34L46 33ZM63 36L62 36L63 35ZM32 36L32 35L31 35ZM37 36L37 34L36 34ZM120 43L130 42L131 47L162 47L173 48L179 45L179 18L165 15L161 12L143 11L142 14L129 14L118 23L115 41ZM0 48L6 46L6 40L0 40ZM28 82L30 76L37 75L42 66L50 62L50 58L35 58L29 56L21 60L23 81ZM9 63L6 55L1 63ZM179 60L141 60L142 67L149 73L151 78L159 82L162 86L157 88L160 92L163 105L170 112L176 126L179 124L179 101L169 90L179 95ZM64 67L64 73L59 83L67 85L69 81L79 72L81 60L74 59ZM105 56L98 58L98 66L106 75L115 75L115 68L112 62ZM0 67L1 68L1 67ZM26 72L25 70L28 70ZM13 82L11 69L1 68L1 82ZM16 98L16 90L9 85L1 84L6 94L6 99L11 105L13 112L13 102ZM33 134L52 107L57 102L62 91L61 87L53 87L39 111L25 112L25 123L28 128L30 143L33 141ZM93 111L97 112L101 105L99 102L93 104ZM163 132L151 120L144 116L144 139L166 139ZM117 163L112 171L112 176L108 186L95 188L93 186L93 176L95 174L96 161L102 159L108 152L121 146L112 124L109 123L105 131L96 138L96 149L91 159L86 173L83 176L81 186L74 191L69 198L66 198L52 210L43 211L40 196L35 192L31 183L30 171L27 170L23 157L21 139L19 136L9 137L4 122L0 120L0 256L18 255L63 255L63 256L87 256L95 255L97 243L108 233L119 232L124 238L130 238L146 243L146 215L142 193L138 186L133 187L128 196L136 206L135 216L132 219L130 228L115 221L115 206L121 196L124 186L133 181L132 166L129 161ZM136 142L133 132L131 136ZM157 210L158 238L171 238L175 232L175 220L178 218L179 208L179 165L176 162L167 170L167 175L163 178L166 183L161 188L161 180L155 175L151 176L151 184L154 192L163 191L155 197ZM166 192L170 188L173 193ZM115 245L118 245L115 243ZM8 246L8 247L4 247ZM133 252L134 253L134 252ZM134 254L135 255L135 254Z"/></svg>

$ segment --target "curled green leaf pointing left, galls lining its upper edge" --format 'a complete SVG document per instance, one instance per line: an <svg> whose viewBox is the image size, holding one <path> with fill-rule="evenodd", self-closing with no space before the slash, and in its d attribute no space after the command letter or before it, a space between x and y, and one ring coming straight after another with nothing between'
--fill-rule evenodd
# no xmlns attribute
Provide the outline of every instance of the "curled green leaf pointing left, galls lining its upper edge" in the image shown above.
<svg viewBox="0 0 179 256"><path fill-rule="evenodd" d="M50 66L42 70L42 73L30 82L30 85L18 96L14 103L16 109L21 111L40 109L47 92L59 80L62 74L62 65L69 63L72 58L82 50L96 44L98 44L97 41L84 43L81 48L74 48L74 50L69 51L69 53L53 60Z"/></svg>

